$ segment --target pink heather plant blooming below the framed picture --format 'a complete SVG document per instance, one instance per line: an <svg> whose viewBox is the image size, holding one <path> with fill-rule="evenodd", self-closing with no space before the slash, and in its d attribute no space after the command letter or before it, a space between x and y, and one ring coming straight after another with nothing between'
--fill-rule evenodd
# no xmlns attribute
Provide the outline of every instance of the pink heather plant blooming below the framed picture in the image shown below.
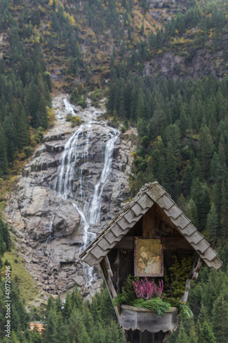
<svg viewBox="0 0 228 343"><path fill-rule="evenodd" d="M161 298L164 284L163 281L159 281L159 286L157 286L153 281L149 282L146 276L144 276L144 280L133 281L133 287L137 298L149 300L155 296Z"/></svg>

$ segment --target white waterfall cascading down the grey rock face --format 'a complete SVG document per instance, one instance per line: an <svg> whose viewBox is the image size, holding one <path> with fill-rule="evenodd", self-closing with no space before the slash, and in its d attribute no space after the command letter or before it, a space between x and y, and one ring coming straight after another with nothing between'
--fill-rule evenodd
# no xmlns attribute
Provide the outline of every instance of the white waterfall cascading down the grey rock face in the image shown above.
<svg viewBox="0 0 228 343"><path fill-rule="evenodd" d="M75 115L73 106L64 99L64 105L68 113ZM62 199L74 200L75 209L81 217L84 226L83 245L86 248L89 240L96 236L91 232L92 226L99 224L101 217L101 202L103 189L112 171L112 156L114 143L118 139L118 130L107 126L105 121L98 121L97 117L101 110L93 107L81 111L81 119L84 123L75 130L75 133L66 142L64 152L60 158L57 178L53 188L57 196ZM99 134L101 139L101 150L104 151L102 160L101 176L94 182L89 172L84 176L84 170L90 167L90 152L92 150L92 137ZM93 189L91 193L91 189ZM88 284L92 282L92 268L86 268L88 273Z"/></svg>

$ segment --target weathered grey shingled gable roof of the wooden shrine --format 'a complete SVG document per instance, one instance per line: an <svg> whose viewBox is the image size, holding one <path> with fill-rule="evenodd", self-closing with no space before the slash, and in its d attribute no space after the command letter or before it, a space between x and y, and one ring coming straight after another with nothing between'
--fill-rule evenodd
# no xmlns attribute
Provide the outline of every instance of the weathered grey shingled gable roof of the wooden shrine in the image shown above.
<svg viewBox="0 0 228 343"><path fill-rule="evenodd" d="M223 262L158 182L151 182L140 189L131 202L125 205L107 228L81 253L81 260L90 266L99 264L154 203L166 213L178 232L187 239L203 261L218 270Z"/></svg>

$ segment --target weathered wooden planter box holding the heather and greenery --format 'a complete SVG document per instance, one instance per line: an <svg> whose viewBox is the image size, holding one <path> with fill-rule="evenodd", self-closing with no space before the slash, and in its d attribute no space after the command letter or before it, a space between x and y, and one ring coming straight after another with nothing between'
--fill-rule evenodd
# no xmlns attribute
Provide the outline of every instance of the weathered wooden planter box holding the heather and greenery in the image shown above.
<svg viewBox="0 0 228 343"><path fill-rule="evenodd" d="M147 330L151 333L159 331L177 330L177 307L171 307L171 310L162 314L159 318L156 311L150 311L141 307L121 305L121 327L125 330Z"/></svg>

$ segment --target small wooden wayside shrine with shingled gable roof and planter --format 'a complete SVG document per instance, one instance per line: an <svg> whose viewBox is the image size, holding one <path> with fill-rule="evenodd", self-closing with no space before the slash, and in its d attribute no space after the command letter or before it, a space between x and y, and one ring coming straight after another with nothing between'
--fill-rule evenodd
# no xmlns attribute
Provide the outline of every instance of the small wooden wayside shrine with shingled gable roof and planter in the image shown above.
<svg viewBox="0 0 228 343"><path fill-rule="evenodd" d="M149 257L151 254L151 257ZM216 270L222 262L190 220L177 207L157 182L145 185L100 235L81 253L82 261L90 266L99 264L113 300L127 276L150 276L162 279L164 269L192 256L192 270L186 279L186 302L190 281L196 280L202 265ZM145 265L147 257L147 266ZM128 305L115 307L126 342L164 343L177 329L177 308L157 313Z"/></svg>

